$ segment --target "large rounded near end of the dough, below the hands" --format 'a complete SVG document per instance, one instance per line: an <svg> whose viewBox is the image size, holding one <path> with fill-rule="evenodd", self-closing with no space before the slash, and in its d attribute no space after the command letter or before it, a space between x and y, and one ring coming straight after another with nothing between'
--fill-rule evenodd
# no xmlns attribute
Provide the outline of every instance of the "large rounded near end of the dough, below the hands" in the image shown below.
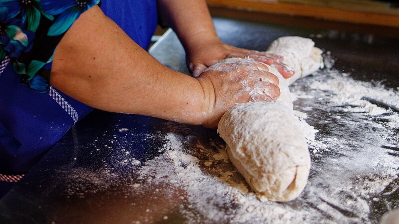
<svg viewBox="0 0 399 224"><path fill-rule="evenodd" d="M219 123L230 160L251 188L272 201L289 201L305 187L310 157L295 115L284 105L237 105Z"/></svg>

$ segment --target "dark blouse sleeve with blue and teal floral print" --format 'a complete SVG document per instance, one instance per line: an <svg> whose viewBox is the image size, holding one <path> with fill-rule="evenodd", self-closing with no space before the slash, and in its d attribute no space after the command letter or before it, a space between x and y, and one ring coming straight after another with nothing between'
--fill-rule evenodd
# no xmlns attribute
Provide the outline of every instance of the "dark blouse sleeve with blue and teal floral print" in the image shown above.
<svg viewBox="0 0 399 224"><path fill-rule="evenodd" d="M9 57L20 82L49 91L55 47L72 23L100 0L1 0L0 62Z"/></svg>

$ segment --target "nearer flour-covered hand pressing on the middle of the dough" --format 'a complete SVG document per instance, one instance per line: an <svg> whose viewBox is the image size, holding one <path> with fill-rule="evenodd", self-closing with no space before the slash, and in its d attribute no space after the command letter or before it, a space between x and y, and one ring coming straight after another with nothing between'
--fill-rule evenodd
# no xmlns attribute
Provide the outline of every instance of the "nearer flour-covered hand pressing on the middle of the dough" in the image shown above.
<svg viewBox="0 0 399 224"><path fill-rule="evenodd" d="M279 80L263 63L231 58L206 69L197 79L205 95L205 120L217 127L223 114L239 103L274 101L280 95Z"/></svg>

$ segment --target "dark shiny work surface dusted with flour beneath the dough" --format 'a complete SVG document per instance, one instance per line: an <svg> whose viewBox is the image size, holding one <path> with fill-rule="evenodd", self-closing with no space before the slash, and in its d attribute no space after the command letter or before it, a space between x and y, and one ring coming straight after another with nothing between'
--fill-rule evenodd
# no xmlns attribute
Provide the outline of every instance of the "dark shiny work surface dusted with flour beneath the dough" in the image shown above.
<svg viewBox="0 0 399 224"><path fill-rule="evenodd" d="M356 83L382 86L395 94L399 92L398 39L225 19L214 21L223 41L248 49L263 51L281 36L312 38L315 45L324 50L326 58L335 62L329 68L336 71L333 72L335 76ZM173 32L167 32L150 49L150 53L166 66L187 73L183 48ZM175 150L173 146L168 146L172 133L178 136L176 139L181 142L184 153L198 159L193 164L199 164L199 169L207 178L224 180L221 186L224 183L234 188L231 183L242 183L247 188L227 160L218 160L219 163L212 160L214 155L224 155L224 142L216 130L151 117L94 111L69 131L1 199L0 223L297 223L295 216L305 223L377 223L385 212L399 205L399 130L395 125L386 126L388 116L398 116L399 108L395 106L398 102L386 104L366 97L370 103L390 111L390 114L378 116L364 112L350 113L337 106L330 109L326 105L331 103L329 97L333 94L307 89L313 82L330 79L326 74L319 74L322 78L317 75L306 77L291 87L294 93L310 95L298 97L294 101L295 109L307 113L306 121L319 130L315 141L309 144L312 168L304 193L285 204L264 202L267 208L284 208L292 215L291 218L281 216L281 220L269 220L272 215L257 216L257 209L262 205L257 202L257 208L246 208L247 217L240 216L238 219L244 204L232 203L234 200L231 200L215 206L212 201L217 201L217 195L212 195L216 193L212 193L212 186L208 184L200 189L208 191L210 197L203 200L219 211L218 216L210 216L202 208L202 199L193 197L193 190L190 189L193 187L190 186L196 183L188 185L183 183L183 179L182 183L169 183L170 178L164 174L167 171L162 170L164 167L152 167L152 171L141 175L150 161L157 164L157 159ZM303 108L308 109L301 110ZM382 129L369 130L371 123L367 122L378 123ZM364 134L373 131L378 136ZM335 139L335 143L328 139ZM320 146L323 142L324 145ZM388 160L387 165L384 161ZM207 165L207 161L212 163ZM218 164L219 167L212 167ZM180 168L180 165L174 166L179 172L177 167ZM182 165L185 169L186 166L187 163ZM231 170L229 175L237 180L219 178L218 171L224 167ZM363 167L367 168L364 172ZM165 181L153 180L163 178ZM332 181L339 181L340 178L346 182L337 184ZM373 189L373 186L376 188ZM227 192L224 197L228 198L229 191L223 192ZM253 197L253 194L246 194L244 191L242 197ZM253 217L250 217L251 214Z"/></svg>

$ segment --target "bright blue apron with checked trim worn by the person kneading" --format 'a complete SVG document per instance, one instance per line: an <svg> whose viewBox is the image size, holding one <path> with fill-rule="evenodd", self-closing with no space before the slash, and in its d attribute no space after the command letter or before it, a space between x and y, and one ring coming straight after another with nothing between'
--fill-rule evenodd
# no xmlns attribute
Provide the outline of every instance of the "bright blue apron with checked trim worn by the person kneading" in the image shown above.
<svg viewBox="0 0 399 224"><path fill-rule="evenodd" d="M102 0L101 10L147 49L157 26L156 0ZM1 183L15 182L93 108L50 87L39 93L20 84L8 58L0 64Z"/></svg>

